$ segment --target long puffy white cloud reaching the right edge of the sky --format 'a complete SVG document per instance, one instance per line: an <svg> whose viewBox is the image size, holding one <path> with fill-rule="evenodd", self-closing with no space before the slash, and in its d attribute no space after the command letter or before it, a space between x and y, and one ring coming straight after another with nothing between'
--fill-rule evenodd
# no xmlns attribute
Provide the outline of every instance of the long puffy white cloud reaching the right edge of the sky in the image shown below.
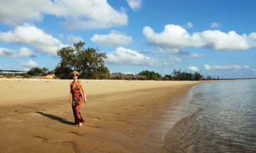
<svg viewBox="0 0 256 153"><path fill-rule="evenodd" d="M220 30L206 30L191 34L176 25L164 26L161 33L155 33L152 28L145 26L142 33L151 44L166 48L212 47L215 50L230 51L256 47L256 33L238 35L235 31L223 33Z"/></svg>

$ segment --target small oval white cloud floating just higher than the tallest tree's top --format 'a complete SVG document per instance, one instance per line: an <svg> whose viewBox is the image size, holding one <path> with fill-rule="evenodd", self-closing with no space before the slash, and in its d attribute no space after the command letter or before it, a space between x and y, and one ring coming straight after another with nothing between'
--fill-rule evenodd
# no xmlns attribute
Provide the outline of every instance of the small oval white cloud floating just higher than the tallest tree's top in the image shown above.
<svg viewBox="0 0 256 153"><path fill-rule="evenodd" d="M93 35L91 38L92 42L100 45L107 46L119 46L119 45L129 45L132 43L132 37L124 35L119 31L112 30L111 33L107 35Z"/></svg>

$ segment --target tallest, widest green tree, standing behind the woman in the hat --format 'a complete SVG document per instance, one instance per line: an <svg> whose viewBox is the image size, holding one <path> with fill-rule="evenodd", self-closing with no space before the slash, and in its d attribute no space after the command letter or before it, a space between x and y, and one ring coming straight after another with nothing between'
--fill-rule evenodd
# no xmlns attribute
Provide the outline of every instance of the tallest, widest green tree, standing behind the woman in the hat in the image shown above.
<svg viewBox="0 0 256 153"><path fill-rule="evenodd" d="M60 56L60 67L80 72L83 79L98 79L100 76L99 68L104 67L105 53L99 52L96 48L83 48L85 42L75 43L73 46L62 47L57 50Z"/></svg>

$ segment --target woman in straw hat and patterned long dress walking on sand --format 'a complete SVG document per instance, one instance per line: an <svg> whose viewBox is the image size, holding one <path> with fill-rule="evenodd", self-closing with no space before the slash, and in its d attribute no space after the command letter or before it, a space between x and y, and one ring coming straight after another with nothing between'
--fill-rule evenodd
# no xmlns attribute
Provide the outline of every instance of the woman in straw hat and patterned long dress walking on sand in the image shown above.
<svg viewBox="0 0 256 153"><path fill-rule="evenodd" d="M75 118L75 126L81 127L85 120L82 119L80 113L80 107L82 106L82 101L87 103L87 98L85 96L85 90L83 89L82 82L78 81L80 76L79 72L73 71L70 73L70 77L73 77L73 81L70 83L70 103L72 103L72 109Z"/></svg>

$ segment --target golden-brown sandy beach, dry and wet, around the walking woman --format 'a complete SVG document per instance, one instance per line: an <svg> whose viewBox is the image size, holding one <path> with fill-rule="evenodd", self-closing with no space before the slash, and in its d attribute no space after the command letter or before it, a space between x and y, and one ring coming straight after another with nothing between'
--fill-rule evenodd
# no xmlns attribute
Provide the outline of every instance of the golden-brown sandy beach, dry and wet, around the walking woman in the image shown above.
<svg viewBox="0 0 256 153"><path fill-rule="evenodd" d="M76 128L71 81L0 79L0 152L159 152L165 113L202 83L82 80L86 122Z"/></svg>

